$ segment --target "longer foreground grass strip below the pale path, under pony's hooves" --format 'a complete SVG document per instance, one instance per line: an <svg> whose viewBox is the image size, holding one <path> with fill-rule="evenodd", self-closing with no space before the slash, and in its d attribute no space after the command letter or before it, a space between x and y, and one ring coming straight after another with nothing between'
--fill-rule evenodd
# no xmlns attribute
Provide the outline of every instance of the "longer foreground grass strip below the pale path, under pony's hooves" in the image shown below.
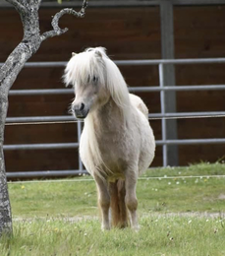
<svg viewBox="0 0 225 256"><path fill-rule="evenodd" d="M0 243L1 256L225 255L225 220L161 216L141 218L141 230L101 231L98 221L16 222L14 237Z"/></svg>

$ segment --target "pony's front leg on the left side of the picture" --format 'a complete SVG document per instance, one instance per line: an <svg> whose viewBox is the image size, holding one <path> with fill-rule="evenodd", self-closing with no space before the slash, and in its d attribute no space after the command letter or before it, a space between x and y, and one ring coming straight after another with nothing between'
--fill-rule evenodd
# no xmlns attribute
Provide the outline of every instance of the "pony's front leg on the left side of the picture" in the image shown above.
<svg viewBox="0 0 225 256"><path fill-rule="evenodd" d="M101 229L110 229L109 223L109 207L110 207L110 195L108 191L107 182L103 181L99 177L94 177L97 185L98 192L98 204L101 211Z"/></svg>

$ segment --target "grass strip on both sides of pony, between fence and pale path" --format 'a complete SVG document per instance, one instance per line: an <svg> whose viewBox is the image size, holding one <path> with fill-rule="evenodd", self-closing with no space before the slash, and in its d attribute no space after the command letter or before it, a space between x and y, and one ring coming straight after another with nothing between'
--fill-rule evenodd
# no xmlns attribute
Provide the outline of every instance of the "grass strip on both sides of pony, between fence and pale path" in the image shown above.
<svg viewBox="0 0 225 256"><path fill-rule="evenodd" d="M222 174L225 164L220 163L147 170L137 187L139 213L225 212L225 178L208 177ZM170 176L174 178L165 178ZM89 176L9 183L9 193L14 218L98 215L95 183Z"/></svg>

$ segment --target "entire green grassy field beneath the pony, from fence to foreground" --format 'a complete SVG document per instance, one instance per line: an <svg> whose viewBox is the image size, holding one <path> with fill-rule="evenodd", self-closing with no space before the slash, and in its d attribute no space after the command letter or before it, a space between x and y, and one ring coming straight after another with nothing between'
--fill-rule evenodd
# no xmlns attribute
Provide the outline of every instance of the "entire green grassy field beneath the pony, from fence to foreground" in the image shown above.
<svg viewBox="0 0 225 256"><path fill-rule="evenodd" d="M147 170L139 232L100 230L89 176L9 183L14 236L1 239L0 255L225 255L224 174L221 163Z"/></svg>

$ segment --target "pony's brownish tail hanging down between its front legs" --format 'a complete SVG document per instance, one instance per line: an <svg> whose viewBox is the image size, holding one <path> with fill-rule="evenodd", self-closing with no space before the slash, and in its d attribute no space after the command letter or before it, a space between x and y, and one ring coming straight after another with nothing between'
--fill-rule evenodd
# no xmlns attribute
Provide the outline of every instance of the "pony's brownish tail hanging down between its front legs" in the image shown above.
<svg viewBox="0 0 225 256"><path fill-rule="evenodd" d="M109 183L111 225L113 227L124 228L129 225L128 211L125 204L125 181L118 179Z"/></svg>

